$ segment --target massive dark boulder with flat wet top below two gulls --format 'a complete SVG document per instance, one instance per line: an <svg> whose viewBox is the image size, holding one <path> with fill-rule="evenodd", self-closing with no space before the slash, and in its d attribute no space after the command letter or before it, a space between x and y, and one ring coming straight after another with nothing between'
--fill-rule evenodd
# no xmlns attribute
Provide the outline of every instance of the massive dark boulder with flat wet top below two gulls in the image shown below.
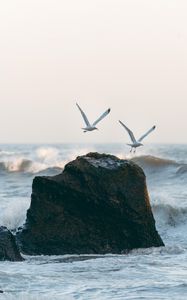
<svg viewBox="0 0 187 300"><path fill-rule="evenodd" d="M142 169L98 153L78 157L60 175L35 177L18 239L27 254L123 253L164 245Z"/></svg>

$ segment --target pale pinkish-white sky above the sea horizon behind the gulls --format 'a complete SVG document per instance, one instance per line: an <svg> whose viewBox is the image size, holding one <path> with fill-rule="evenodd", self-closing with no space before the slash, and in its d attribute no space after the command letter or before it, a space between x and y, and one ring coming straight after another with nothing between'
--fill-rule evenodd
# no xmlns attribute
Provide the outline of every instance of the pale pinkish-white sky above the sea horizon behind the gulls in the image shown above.
<svg viewBox="0 0 187 300"><path fill-rule="evenodd" d="M0 82L1 143L187 143L187 1L2 0Z"/></svg>

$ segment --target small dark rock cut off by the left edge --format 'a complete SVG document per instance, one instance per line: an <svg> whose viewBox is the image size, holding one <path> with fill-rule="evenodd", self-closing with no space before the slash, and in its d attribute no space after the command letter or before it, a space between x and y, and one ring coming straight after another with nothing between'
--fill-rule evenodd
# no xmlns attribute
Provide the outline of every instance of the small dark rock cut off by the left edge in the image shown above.
<svg viewBox="0 0 187 300"><path fill-rule="evenodd" d="M24 260L19 253L15 237L4 226L0 227L0 260Z"/></svg>

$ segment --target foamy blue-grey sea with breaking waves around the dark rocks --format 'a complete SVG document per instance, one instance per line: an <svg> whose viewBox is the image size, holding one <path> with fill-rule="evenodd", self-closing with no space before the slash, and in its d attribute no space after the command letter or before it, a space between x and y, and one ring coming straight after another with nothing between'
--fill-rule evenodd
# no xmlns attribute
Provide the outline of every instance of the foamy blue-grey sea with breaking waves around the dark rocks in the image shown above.
<svg viewBox="0 0 187 300"><path fill-rule="evenodd" d="M165 247L127 255L24 256L0 262L0 299L187 299L187 145L0 145L0 225L21 226L36 175L55 175L90 151L133 159L144 169Z"/></svg>

